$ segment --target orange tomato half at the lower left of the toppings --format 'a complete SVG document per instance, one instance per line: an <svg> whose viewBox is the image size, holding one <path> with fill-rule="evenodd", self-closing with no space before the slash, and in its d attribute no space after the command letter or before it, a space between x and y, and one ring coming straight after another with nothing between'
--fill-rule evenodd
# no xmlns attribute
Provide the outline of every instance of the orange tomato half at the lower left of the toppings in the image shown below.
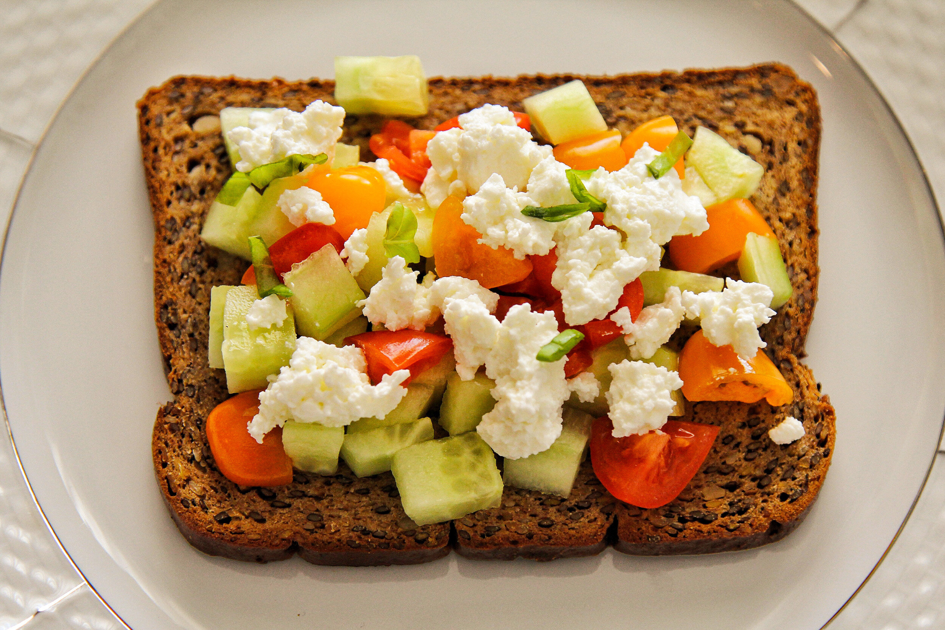
<svg viewBox="0 0 945 630"><path fill-rule="evenodd" d="M239 485L286 485L292 483L292 460L283 450L283 430L276 427L260 444L249 434L247 424L259 412L257 389L237 394L214 407L207 416L207 441L216 468Z"/></svg>

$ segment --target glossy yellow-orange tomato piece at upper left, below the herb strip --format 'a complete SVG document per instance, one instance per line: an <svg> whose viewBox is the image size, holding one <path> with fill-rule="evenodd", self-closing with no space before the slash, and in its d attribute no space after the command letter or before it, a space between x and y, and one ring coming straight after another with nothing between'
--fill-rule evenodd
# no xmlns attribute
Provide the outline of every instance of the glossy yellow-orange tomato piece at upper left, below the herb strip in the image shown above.
<svg viewBox="0 0 945 630"><path fill-rule="evenodd" d="M384 177L370 166L316 171L305 185L317 190L335 211L332 228L345 241L352 231L367 228L371 214L384 210L387 200Z"/></svg>

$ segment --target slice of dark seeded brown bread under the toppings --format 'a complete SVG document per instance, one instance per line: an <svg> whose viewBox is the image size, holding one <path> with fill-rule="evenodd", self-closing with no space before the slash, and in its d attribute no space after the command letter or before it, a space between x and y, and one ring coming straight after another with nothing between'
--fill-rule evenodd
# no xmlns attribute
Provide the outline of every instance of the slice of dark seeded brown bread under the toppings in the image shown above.
<svg viewBox="0 0 945 630"><path fill-rule="evenodd" d="M433 128L484 103L521 109L524 97L574 78L570 75L433 78L430 112L411 122L418 128ZM792 374L805 370L797 364L795 355L802 355L816 301L815 194L820 133L816 96L810 86L780 64L580 78L611 127L627 133L645 120L669 113L690 134L698 125L713 128L765 165L765 178L752 198L778 234L795 294L763 328L762 334L772 354L782 357L795 370ZM297 472L291 485L241 488L215 468L203 431L209 412L228 397L222 370L207 366L210 288L239 283L248 266L205 246L199 239L203 217L232 173L215 115L228 106L287 107L301 111L317 98L334 102L333 92L331 81L175 77L149 90L138 103L146 183L155 226L155 318L167 380L175 397L163 406L155 421L152 440L155 474L180 531L206 553L267 561L298 552L306 560L328 565L424 562L448 553L451 525L417 528L406 519L389 473L358 480L342 465L339 474L332 478ZM362 159L370 160L368 139L382 123L383 119L377 116L350 115L345 121L342 142L360 145ZM816 406L811 400L804 398L800 402L804 414L808 407ZM696 419L723 422L722 435L739 431L741 423L753 421L742 419L747 412L739 411L739 404L698 403ZM821 452L819 468L816 464L813 467L821 471L818 479L822 481L833 448L833 410L826 399L817 404L830 409L829 414L822 412L825 420L820 423L818 434L818 439L826 440L824 444L830 446L826 455ZM692 413L693 405L689 407ZM700 411L703 408L707 411ZM732 415L729 420L725 419L728 413ZM806 415L804 421L806 427ZM729 444L716 443L715 448L717 451L713 451L710 459L717 454L724 460L746 451L747 444L735 440ZM785 452L788 455L781 458L781 469L792 464L799 468L803 453L798 454L797 449L792 451L790 447ZM710 466L707 461L683 497L692 495L690 490L696 484L709 484L717 473ZM798 479L785 480L784 487L790 485L789 499L785 501L789 506L806 509L816 497L819 481ZM642 520L643 512L634 515L634 508L614 502L596 481L586 463L572 496L557 505L553 504L560 501L557 498L507 488L502 508L483 510L455 521L458 553L506 559L518 555L553 559L597 553L604 548L608 529L612 533L616 521L621 534L618 548L627 551L627 545L637 544L634 532L644 531L652 520ZM802 495L792 499L799 488L803 488ZM736 511L742 509L743 504L739 505ZM703 506L702 510L706 509L710 508ZM799 522L803 509L794 519L786 519L779 512L784 519L782 526ZM743 528L736 532L754 532L761 527L758 523L766 518L767 512L770 510L759 506L757 518L740 523ZM542 524L547 520L552 521L552 526ZM752 524L746 528L749 521ZM717 532L690 529L693 534L681 538L665 531L646 536L651 536L647 539L649 544L656 544L653 536L663 535L670 541L669 546L683 541L687 546L675 548L683 550L680 553L719 551L714 547L718 544ZM703 536L705 544L696 544L699 536ZM654 549L653 553L673 553Z"/></svg>

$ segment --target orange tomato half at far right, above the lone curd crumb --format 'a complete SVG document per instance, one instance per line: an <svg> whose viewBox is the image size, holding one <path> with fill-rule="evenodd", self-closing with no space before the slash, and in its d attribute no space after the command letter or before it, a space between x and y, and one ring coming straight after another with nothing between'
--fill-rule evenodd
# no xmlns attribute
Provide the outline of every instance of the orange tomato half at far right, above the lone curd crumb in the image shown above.
<svg viewBox="0 0 945 630"><path fill-rule="evenodd" d="M794 400L794 390L765 350L754 358L740 359L731 346L713 346L702 331L689 338L679 353L679 378L687 400L738 400L763 398L777 407Z"/></svg>

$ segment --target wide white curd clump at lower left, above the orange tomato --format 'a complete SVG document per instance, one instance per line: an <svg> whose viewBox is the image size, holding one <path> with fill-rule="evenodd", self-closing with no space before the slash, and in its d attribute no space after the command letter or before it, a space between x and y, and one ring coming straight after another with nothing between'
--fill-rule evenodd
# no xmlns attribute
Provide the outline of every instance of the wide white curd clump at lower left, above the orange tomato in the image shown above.
<svg viewBox="0 0 945 630"><path fill-rule="evenodd" d="M401 383L410 370L386 374L371 385L364 352L356 346L336 348L310 337L299 337L288 366L269 377L259 395L259 413L249 421L257 442L286 420L318 422L341 427L361 417L385 417L404 398Z"/></svg>

